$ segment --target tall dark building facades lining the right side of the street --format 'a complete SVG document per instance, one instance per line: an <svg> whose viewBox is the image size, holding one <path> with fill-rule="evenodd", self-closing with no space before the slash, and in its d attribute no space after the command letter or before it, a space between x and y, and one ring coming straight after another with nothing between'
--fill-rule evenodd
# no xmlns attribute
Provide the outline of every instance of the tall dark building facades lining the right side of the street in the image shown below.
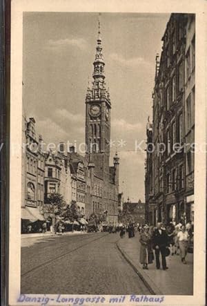
<svg viewBox="0 0 207 306"><path fill-rule="evenodd" d="M172 14L162 40L152 94L155 149L146 159L146 204L154 224L186 222L193 203L195 15Z"/></svg>

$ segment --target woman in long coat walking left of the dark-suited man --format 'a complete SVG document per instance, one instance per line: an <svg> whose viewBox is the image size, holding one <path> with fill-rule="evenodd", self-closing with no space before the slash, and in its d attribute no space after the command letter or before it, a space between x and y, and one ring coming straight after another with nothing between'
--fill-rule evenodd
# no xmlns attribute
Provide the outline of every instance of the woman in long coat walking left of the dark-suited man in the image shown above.
<svg viewBox="0 0 207 306"><path fill-rule="evenodd" d="M143 269L148 269L148 264L152 263L152 238L149 233L148 225L145 225L144 232L141 233L139 242L140 242L140 251L139 251L139 262L143 265Z"/></svg>

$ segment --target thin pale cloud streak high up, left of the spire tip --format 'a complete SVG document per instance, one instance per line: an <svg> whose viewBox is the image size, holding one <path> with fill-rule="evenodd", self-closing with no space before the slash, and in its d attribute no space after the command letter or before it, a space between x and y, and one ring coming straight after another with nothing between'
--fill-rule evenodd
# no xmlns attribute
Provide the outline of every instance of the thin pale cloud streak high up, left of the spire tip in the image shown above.
<svg viewBox="0 0 207 306"><path fill-rule="evenodd" d="M83 38L49 39L46 44L46 48L50 49L59 49L67 46L73 46L83 50L87 47L87 41Z"/></svg>

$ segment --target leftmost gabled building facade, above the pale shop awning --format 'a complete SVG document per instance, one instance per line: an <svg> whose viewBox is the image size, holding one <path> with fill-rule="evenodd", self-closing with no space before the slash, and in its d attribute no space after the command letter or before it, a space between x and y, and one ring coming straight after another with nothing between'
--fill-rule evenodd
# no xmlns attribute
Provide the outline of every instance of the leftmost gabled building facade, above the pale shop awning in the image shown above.
<svg viewBox="0 0 207 306"><path fill-rule="evenodd" d="M43 217L43 182L45 160L42 152L42 138L35 130L35 120L23 117L22 151L22 202L21 231L26 232L31 222L44 221Z"/></svg>

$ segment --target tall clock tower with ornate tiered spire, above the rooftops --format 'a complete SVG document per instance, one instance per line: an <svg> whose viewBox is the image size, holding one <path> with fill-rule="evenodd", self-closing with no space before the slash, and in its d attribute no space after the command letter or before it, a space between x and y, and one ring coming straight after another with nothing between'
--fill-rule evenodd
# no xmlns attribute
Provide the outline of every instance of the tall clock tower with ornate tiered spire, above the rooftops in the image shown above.
<svg viewBox="0 0 207 306"><path fill-rule="evenodd" d="M101 24L99 19L97 47L93 62L92 86L86 93L86 152L92 154L95 171L105 178L110 157L110 95L106 89Z"/></svg>

